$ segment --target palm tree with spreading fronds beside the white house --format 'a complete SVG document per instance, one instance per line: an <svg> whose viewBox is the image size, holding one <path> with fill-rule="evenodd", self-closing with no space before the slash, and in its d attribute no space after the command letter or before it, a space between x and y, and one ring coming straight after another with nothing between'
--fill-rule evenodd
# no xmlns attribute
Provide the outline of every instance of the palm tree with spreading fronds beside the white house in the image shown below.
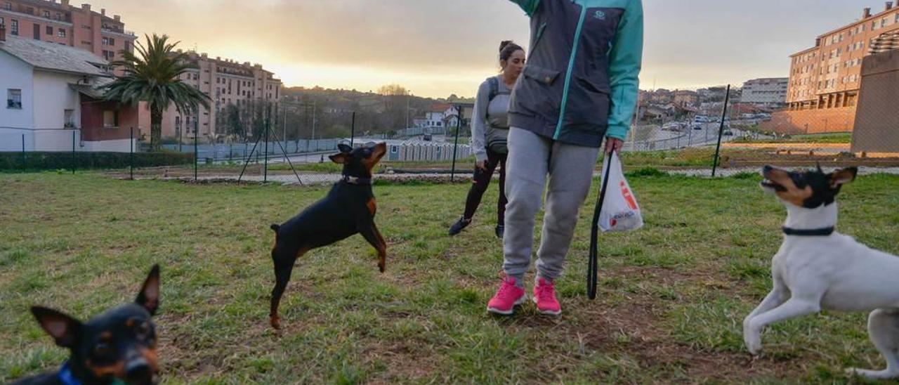
<svg viewBox="0 0 899 385"><path fill-rule="evenodd" d="M178 112L197 112L200 105L209 108L209 96L199 88L182 83L179 76L191 68L187 54L175 51L180 41L169 43L166 35L145 35L147 45L135 44L138 55L122 50L121 60L112 62L121 68L118 76L103 88L106 99L120 104L137 106L147 102L150 109L150 148L156 151L162 144L163 113L169 104Z"/></svg>

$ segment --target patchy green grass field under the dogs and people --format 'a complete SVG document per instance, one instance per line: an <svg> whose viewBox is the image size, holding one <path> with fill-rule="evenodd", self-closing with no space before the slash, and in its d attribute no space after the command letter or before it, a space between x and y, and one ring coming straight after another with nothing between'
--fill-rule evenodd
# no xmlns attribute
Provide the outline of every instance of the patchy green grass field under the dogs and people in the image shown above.
<svg viewBox="0 0 899 385"><path fill-rule="evenodd" d="M361 237L309 253L278 336L267 324L268 225L324 187L0 175L0 382L66 359L28 306L88 318L132 300L155 263L164 383L832 383L850 381L845 366L885 364L863 314L792 320L765 333L760 359L745 353L742 319L770 289L785 214L756 175L630 182L646 228L601 236L590 301L583 210L557 284L560 318L530 304L511 318L485 313L502 260L495 188L476 223L450 238L466 185L379 185L387 273ZM899 253L897 189L888 175L845 187L841 231Z"/></svg>

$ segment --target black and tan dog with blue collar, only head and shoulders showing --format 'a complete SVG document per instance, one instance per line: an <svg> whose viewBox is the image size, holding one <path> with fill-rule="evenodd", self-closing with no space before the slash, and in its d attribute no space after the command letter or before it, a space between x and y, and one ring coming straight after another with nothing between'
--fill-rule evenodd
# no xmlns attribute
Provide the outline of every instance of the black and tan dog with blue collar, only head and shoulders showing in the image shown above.
<svg viewBox="0 0 899 385"><path fill-rule="evenodd" d="M153 266L134 303L107 310L86 324L54 309L35 306L31 314L57 345L71 355L57 372L15 382L30 384L150 384L156 363L159 265Z"/></svg>

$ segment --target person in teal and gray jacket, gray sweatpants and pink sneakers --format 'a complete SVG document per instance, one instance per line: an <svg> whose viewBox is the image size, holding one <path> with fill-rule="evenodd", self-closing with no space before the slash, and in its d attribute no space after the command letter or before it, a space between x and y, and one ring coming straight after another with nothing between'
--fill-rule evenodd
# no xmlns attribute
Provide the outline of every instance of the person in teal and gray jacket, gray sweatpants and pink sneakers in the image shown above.
<svg viewBox="0 0 899 385"><path fill-rule="evenodd" d="M534 300L558 315L555 280L590 190L602 141L619 151L636 107L641 0L511 0L530 16L530 56L510 100L503 271L487 310L525 300L533 229L546 188ZM548 184L547 184L548 181Z"/></svg>

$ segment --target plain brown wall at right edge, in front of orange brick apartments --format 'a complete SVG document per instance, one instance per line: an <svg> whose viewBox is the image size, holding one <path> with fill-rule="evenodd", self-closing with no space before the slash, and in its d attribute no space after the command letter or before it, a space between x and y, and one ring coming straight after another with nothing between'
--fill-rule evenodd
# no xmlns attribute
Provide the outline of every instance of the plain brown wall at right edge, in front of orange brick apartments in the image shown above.
<svg viewBox="0 0 899 385"><path fill-rule="evenodd" d="M852 151L899 153L899 50L864 59Z"/></svg>

